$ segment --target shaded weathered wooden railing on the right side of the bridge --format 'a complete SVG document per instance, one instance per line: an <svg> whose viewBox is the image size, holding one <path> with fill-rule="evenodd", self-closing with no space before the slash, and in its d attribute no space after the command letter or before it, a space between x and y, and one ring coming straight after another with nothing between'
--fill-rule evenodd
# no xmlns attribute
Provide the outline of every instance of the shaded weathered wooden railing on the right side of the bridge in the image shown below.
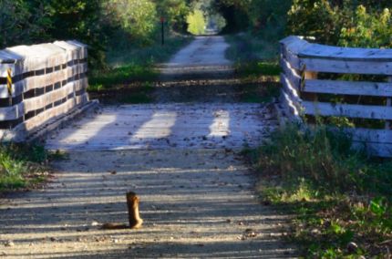
<svg viewBox="0 0 392 259"><path fill-rule="evenodd" d="M360 126L346 130L356 144L392 157L392 49L329 47L289 36L281 41L281 66L286 116L352 119Z"/></svg>

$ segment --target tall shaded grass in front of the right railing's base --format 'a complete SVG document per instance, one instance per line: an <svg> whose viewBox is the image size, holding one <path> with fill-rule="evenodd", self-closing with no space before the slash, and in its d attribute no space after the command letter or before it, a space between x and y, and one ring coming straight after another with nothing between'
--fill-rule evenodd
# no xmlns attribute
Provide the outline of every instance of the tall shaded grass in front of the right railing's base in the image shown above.
<svg viewBox="0 0 392 259"><path fill-rule="evenodd" d="M287 181L311 181L319 192L349 190L392 196L392 164L372 162L365 152L351 146L344 131L325 126L300 130L292 125L273 134L273 143L261 148L258 164Z"/></svg>

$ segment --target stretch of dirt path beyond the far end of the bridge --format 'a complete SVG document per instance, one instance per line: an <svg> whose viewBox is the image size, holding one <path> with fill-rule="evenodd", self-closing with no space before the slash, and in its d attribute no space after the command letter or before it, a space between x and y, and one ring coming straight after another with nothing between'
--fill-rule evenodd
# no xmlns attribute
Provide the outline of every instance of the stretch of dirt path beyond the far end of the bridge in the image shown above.
<svg viewBox="0 0 392 259"><path fill-rule="evenodd" d="M222 36L200 36L160 67L154 99L172 102L235 102L229 45Z"/></svg>

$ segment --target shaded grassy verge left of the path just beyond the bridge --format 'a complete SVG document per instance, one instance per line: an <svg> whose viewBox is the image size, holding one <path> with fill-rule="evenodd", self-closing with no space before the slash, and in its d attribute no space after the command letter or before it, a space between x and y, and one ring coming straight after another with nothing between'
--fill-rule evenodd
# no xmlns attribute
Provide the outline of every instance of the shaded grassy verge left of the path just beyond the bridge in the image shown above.
<svg viewBox="0 0 392 259"><path fill-rule="evenodd" d="M155 66L167 61L191 36L172 35L166 44L148 47L122 47L108 51L108 68L95 70L89 75L88 91L101 101L148 103L159 73Z"/></svg>

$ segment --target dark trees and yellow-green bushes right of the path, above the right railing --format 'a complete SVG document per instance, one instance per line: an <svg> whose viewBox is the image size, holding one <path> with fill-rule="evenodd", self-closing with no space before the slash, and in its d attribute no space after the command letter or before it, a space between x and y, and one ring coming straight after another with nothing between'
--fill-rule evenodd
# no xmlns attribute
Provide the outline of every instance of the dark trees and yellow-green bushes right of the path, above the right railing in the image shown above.
<svg viewBox="0 0 392 259"><path fill-rule="evenodd" d="M392 47L391 0L216 0L227 31L249 28L279 39L315 36L352 47Z"/></svg>

